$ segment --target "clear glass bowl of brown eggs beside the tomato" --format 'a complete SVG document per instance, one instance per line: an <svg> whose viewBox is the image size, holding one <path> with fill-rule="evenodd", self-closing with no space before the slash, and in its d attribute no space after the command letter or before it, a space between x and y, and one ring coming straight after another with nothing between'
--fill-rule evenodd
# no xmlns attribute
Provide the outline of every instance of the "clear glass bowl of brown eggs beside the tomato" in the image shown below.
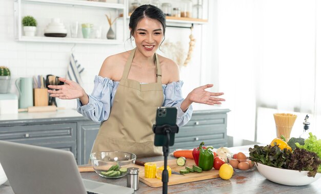
<svg viewBox="0 0 321 194"><path fill-rule="evenodd" d="M243 155L242 155L243 154ZM233 167L234 171L236 172L249 172L255 169L254 162L249 160L248 154L239 154L234 153L227 156L228 163ZM237 159L237 156L241 155L242 159Z"/></svg>

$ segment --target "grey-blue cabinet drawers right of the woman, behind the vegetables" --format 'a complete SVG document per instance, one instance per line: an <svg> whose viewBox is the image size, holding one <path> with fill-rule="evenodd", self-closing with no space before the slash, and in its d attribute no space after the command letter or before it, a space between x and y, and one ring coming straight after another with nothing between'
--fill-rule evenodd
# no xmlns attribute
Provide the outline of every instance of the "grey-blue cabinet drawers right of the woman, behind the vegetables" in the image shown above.
<svg viewBox="0 0 321 194"><path fill-rule="evenodd" d="M227 146L227 113L228 109L211 111L194 111L191 120L179 127L175 135L174 149L192 149L204 141L214 148Z"/></svg>

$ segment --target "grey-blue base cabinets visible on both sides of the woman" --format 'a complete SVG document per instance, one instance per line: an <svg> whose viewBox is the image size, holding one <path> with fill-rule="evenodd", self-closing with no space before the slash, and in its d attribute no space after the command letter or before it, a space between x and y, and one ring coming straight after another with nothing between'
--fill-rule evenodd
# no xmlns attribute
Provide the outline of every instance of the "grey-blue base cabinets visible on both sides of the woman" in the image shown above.
<svg viewBox="0 0 321 194"><path fill-rule="evenodd" d="M194 111L191 120L179 128L171 150L191 149L202 141L217 148L226 146L227 112ZM82 116L0 120L0 140L69 150L78 164L87 164L99 126Z"/></svg>

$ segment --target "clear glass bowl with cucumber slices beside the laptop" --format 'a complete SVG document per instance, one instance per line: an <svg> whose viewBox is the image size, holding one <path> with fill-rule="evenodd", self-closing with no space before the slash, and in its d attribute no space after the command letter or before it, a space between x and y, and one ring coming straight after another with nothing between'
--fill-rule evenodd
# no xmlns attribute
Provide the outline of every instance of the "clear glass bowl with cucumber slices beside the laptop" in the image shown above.
<svg viewBox="0 0 321 194"><path fill-rule="evenodd" d="M96 173L105 178L117 179L127 174L127 167L132 167L136 155L127 152L95 152L90 154L90 162Z"/></svg>

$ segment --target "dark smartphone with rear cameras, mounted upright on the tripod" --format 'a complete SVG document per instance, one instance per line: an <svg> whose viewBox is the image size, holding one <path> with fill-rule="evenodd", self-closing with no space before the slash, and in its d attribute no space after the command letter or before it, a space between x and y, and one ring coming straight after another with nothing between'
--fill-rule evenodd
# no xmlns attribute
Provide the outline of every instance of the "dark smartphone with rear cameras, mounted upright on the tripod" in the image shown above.
<svg viewBox="0 0 321 194"><path fill-rule="evenodd" d="M156 111L156 126L161 126L164 124L175 125L177 117L177 108L176 107L158 107ZM174 145L175 133L170 134L169 146ZM155 134L154 145L163 146L166 144L167 138L166 135Z"/></svg>

